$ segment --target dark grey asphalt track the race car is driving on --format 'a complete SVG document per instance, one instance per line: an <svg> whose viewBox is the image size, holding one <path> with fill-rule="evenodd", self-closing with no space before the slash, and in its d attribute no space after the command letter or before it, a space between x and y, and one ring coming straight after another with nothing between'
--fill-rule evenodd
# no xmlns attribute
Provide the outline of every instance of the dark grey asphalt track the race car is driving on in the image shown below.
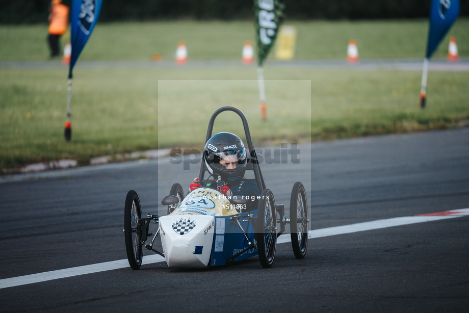
<svg viewBox="0 0 469 313"><path fill-rule="evenodd" d="M145 265L144 257L139 271L2 288L1 311L467 311L469 217L461 209L469 208L468 128L300 148L310 152L302 172L289 164L262 169L277 203L288 203L292 181L310 173L303 182L311 228L329 234L309 241L306 258L295 259L288 242L277 246L271 269L257 257L198 270ZM8 278L125 259L127 191L153 212L159 187L169 190L173 180L186 187L193 178L192 171L166 173L167 161L1 178L0 287ZM459 214L370 226L448 210ZM352 232L356 224L368 228ZM332 233L336 226L342 232Z"/></svg>

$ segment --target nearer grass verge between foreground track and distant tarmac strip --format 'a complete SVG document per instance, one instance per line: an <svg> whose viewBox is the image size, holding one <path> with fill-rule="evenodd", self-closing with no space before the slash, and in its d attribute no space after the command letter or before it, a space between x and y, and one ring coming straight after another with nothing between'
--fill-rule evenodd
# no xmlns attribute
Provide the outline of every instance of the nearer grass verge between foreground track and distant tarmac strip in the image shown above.
<svg viewBox="0 0 469 313"><path fill-rule="evenodd" d="M296 92L266 82L269 119L262 123L255 84L218 93L212 87L183 92L177 85L180 80L255 80L253 67L75 69L73 139L66 143L66 76L66 68L0 70L0 168L57 159L85 165L95 156L159 145L200 147L213 108L224 105L240 107L247 114L257 143L301 140L309 137L305 134L309 129L312 139L328 140L459 127L469 119L466 72L430 72L427 108L422 110L417 103L420 72L267 67L265 76L270 80L311 81L310 116L305 114L305 85ZM160 113L159 80L176 84L173 93L164 89L166 99L173 102L165 102L168 108ZM165 116L169 116L165 129L174 131L163 136L159 118L162 122ZM305 124L309 119L310 124Z"/></svg>

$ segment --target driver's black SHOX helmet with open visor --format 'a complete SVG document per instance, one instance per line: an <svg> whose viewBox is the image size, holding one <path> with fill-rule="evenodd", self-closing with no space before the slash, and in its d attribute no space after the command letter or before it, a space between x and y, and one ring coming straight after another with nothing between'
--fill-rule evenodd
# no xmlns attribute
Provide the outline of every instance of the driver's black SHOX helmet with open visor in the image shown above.
<svg viewBox="0 0 469 313"><path fill-rule="evenodd" d="M211 174L219 174L228 184L237 184L246 172L246 148L231 133L212 136L203 148L203 160Z"/></svg>

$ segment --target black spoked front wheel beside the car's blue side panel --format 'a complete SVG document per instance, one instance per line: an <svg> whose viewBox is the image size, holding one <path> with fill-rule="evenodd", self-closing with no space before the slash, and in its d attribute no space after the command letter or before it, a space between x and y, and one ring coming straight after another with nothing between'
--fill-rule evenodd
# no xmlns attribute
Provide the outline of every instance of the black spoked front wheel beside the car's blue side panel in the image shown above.
<svg viewBox="0 0 469 313"><path fill-rule="evenodd" d="M277 215L272 191L264 189L257 207L256 240L259 261L263 268L274 263L277 247Z"/></svg>

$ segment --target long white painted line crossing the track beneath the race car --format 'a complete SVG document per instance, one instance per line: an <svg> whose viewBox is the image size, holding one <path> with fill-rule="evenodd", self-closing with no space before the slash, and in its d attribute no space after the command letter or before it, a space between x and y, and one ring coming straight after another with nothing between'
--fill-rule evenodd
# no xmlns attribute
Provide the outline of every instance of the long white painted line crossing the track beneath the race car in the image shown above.
<svg viewBox="0 0 469 313"><path fill-rule="evenodd" d="M432 221L437 221L437 220L458 218L458 217L468 216L468 215L469 215L469 208L463 208L461 210L438 212L438 213L432 213L432 214L420 215L420 216L396 217L396 218L385 219L385 220L377 220L377 221L350 224L350 225L344 225L344 226L309 230L308 238L312 239L312 238L335 236L338 234L366 231L366 230L372 230L372 229L381 229L381 228L387 228L387 227L395 227L395 226L409 225L409 224L415 224L415 223L432 222ZM278 244L288 243L288 242L291 242L291 237L290 237L290 234L288 233L282 234L277 239ZM152 263L159 263L159 262L165 262L165 258L158 254L153 254L153 255L145 256L143 258L142 264L152 264ZM122 269L122 268L127 268L127 267L129 267L127 259L122 259L122 260L117 260L117 261L112 261L112 262L91 264L91 265L73 267L69 269L44 272L44 273L39 273L39 274L6 278L6 279L0 280L0 289L20 286L20 285L25 285L25 284L31 284L35 282L59 279L59 278L66 278L66 277L72 277L72 276L79 276L79 275L85 275L85 274L117 270L117 269Z"/></svg>

